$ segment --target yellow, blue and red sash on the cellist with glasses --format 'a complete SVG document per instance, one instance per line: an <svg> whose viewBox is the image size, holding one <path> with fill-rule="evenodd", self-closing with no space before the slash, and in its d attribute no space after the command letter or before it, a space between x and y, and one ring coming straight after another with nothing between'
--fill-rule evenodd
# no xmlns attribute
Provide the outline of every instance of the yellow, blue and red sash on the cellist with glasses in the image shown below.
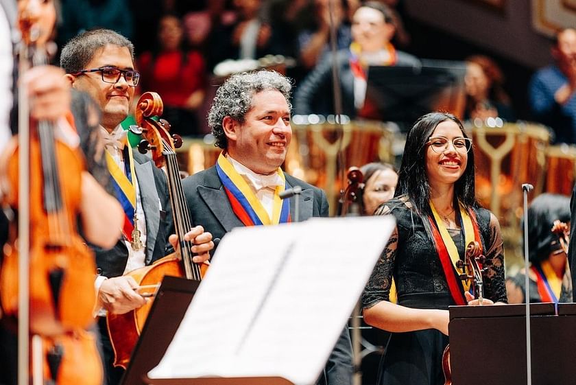
<svg viewBox="0 0 576 385"><path fill-rule="evenodd" d="M124 224L122 226L122 233L126 239L132 242L132 231L134 230L134 211L136 210L136 186L132 183L134 173L134 158L132 156L132 148L130 145L125 145L124 150L128 152L128 161L130 165L126 165L126 156L124 156L124 173L121 167L115 162L110 152L106 150L106 165L110 172L110 180L114 186L116 198L119 200L124 209Z"/></svg>

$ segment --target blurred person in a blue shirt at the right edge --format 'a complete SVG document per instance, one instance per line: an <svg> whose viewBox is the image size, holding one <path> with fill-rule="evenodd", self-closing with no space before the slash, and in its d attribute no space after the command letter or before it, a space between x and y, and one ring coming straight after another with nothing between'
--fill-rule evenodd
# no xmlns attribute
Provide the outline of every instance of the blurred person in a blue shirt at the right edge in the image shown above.
<svg viewBox="0 0 576 385"><path fill-rule="evenodd" d="M557 143L576 143L576 29L556 34L554 64L540 69L529 84L534 117L550 126Z"/></svg>

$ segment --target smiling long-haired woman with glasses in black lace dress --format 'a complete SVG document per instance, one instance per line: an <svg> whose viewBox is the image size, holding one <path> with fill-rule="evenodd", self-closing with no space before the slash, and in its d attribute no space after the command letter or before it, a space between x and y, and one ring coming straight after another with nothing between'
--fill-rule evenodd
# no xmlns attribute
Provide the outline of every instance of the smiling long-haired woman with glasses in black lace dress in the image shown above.
<svg viewBox="0 0 576 385"><path fill-rule="evenodd" d="M507 301L500 226L476 201L471 147L454 115L420 117L407 137L395 198L376 210L396 218L362 296L365 322L392 331L378 384L444 384L448 306L479 304L455 268L470 242L492 262L482 304ZM398 304L389 302L392 278Z"/></svg>

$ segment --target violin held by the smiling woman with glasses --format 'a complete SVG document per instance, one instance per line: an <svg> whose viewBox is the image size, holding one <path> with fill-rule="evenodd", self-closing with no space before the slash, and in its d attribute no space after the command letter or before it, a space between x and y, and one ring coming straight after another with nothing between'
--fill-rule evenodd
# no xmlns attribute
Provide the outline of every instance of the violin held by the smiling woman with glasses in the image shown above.
<svg viewBox="0 0 576 385"><path fill-rule="evenodd" d="M470 284L470 291L474 299L479 300L482 305L484 298L484 281L483 276L488 272L492 261L482 255L482 248L478 242L470 242L466 246L466 258L464 261L459 259L456 267L462 270L459 278ZM442 371L444 372L444 385L452 385L452 372L450 366L450 345L446 345L442 353Z"/></svg>

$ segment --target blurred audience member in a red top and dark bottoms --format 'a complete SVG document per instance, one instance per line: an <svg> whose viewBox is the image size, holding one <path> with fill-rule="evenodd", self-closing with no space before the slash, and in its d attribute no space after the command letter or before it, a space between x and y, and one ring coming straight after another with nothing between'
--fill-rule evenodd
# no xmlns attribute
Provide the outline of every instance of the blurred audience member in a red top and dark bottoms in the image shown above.
<svg viewBox="0 0 576 385"><path fill-rule="evenodd" d="M180 135L198 135L197 109L204 102L206 65L202 55L187 47L182 22L167 14L160 18L158 39L153 51L138 60L142 73L141 91L160 94L164 103L163 117Z"/></svg>

